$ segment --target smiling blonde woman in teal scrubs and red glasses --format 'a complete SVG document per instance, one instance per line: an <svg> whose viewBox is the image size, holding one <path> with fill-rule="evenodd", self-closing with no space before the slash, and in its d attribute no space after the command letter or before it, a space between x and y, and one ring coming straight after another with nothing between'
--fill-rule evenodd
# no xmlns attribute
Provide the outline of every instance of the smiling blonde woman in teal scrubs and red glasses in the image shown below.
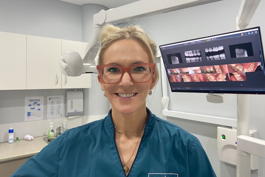
<svg viewBox="0 0 265 177"><path fill-rule="evenodd" d="M216 177L199 140L153 115L156 44L137 26L101 31L98 81L105 119L65 131L13 176Z"/></svg>

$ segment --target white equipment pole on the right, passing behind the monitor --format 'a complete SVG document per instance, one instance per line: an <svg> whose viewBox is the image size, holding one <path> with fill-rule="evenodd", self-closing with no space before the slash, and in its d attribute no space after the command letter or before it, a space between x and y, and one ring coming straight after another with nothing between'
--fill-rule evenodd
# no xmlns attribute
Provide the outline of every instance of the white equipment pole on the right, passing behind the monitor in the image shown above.
<svg viewBox="0 0 265 177"><path fill-rule="evenodd" d="M242 0L236 29L247 27L261 0ZM237 177L250 177L250 154L265 158L265 141L249 137L249 95L237 95Z"/></svg>

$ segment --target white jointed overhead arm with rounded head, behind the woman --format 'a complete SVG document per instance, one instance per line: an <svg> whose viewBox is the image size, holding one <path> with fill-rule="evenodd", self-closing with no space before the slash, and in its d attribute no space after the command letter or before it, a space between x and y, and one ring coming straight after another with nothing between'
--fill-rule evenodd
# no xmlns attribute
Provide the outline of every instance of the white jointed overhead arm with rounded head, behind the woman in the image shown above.
<svg viewBox="0 0 265 177"><path fill-rule="evenodd" d="M162 14L192 6L198 6L221 0L140 0L110 10L101 10L93 16L93 38L87 45L82 57L76 50L67 50L59 58L61 73L67 76L79 76L83 73L97 73L98 34L104 23L121 23L137 18Z"/></svg>

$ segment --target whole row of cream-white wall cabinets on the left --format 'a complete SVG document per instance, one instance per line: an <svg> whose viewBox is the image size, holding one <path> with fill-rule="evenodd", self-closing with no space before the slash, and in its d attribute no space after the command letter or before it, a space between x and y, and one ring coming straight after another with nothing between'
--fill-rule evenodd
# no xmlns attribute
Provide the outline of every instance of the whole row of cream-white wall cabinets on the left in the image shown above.
<svg viewBox="0 0 265 177"><path fill-rule="evenodd" d="M61 53L83 54L86 42L0 32L0 90L90 88L91 74L61 74Z"/></svg>

